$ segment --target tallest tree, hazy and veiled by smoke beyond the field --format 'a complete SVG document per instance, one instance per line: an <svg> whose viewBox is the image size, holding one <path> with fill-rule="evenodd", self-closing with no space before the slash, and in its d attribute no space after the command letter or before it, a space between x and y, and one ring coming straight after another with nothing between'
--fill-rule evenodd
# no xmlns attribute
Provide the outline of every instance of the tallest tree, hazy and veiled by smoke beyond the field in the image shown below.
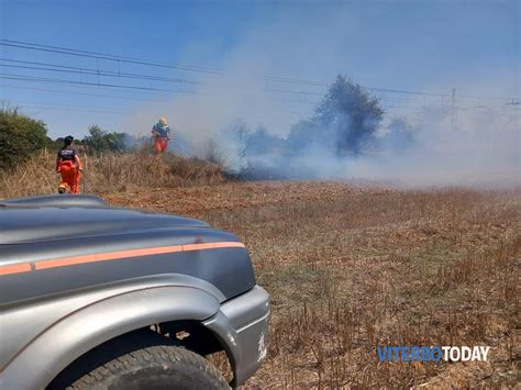
<svg viewBox="0 0 521 390"><path fill-rule="evenodd" d="M297 149L320 145L337 155L362 154L375 141L383 115L377 98L339 75L313 116L291 129L288 142Z"/></svg>

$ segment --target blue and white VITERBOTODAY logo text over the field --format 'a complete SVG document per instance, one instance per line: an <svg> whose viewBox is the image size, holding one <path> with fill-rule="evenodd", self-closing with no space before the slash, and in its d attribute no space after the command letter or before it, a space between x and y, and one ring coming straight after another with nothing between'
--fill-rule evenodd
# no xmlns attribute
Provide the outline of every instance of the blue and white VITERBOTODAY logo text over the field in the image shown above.
<svg viewBox="0 0 521 390"><path fill-rule="evenodd" d="M488 346L377 346L380 361L487 361Z"/></svg>

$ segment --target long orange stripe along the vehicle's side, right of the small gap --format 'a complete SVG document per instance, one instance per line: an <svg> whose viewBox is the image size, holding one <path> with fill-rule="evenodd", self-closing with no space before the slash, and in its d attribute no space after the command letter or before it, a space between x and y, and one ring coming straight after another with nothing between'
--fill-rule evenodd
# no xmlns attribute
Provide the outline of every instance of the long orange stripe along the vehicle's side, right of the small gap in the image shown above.
<svg viewBox="0 0 521 390"><path fill-rule="evenodd" d="M175 253L175 252L208 250L208 249L218 249L218 248L244 248L244 244L236 243L236 242L223 242L223 243L157 246L154 248L118 250L118 252L108 252L108 253L86 255L86 256L75 256L75 257L56 258L56 259L51 259L51 260L42 260L42 261L36 261L34 266L36 270L40 270L40 269L46 269L46 268L74 266L78 264L117 260L120 258L132 258L132 257L151 256L151 255L163 255L163 254L169 254L169 253Z"/></svg>

